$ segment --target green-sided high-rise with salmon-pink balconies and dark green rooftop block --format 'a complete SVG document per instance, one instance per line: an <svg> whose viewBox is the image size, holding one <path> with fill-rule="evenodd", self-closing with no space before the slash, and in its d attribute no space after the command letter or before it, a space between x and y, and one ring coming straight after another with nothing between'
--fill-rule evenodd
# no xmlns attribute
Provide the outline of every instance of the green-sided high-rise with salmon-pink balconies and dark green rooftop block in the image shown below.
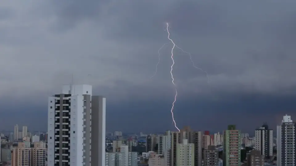
<svg viewBox="0 0 296 166"><path fill-rule="evenodd" d="M223 138L223 166L241 166L241 131L228 125Z"/></svg>

